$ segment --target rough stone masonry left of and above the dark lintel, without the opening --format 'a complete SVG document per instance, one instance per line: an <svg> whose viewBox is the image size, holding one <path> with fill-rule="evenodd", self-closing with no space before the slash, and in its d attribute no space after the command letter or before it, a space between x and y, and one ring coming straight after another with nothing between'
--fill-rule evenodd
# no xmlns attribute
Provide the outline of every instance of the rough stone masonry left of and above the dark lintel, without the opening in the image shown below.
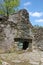
<svg viewBox="0 0 43 65"><path fill-rule="evenodd" d="M31 28L29 14L25 9L10 15L8 20L0 20L0 51L13 52L17 47L14 38L32 39Z"/></svg>

